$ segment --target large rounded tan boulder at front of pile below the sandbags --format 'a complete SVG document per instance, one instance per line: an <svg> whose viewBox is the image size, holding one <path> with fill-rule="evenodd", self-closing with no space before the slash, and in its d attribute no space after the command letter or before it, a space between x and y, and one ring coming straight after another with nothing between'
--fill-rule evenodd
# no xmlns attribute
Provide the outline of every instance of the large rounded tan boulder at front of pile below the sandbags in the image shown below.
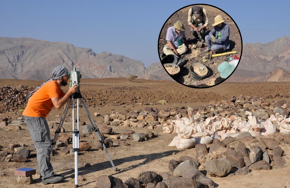
<svg viewBox="0 0 290 188"><path fill-rule="evenodd" d="M226 158L206 161L206 172L210 176L223 177L230 173L231 162Z"/></svg>

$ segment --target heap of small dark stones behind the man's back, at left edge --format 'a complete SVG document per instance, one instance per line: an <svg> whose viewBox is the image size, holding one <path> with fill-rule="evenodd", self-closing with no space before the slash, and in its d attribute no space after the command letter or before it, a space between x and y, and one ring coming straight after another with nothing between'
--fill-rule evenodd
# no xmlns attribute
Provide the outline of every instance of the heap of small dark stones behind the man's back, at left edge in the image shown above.
<svg viewBox="0 0 290 188"><path fill-rule="evenodd" d="M18 87L4 86L0 88L0 112L17 111L26 107L29 92L35 87L19 85Z"/></svg>

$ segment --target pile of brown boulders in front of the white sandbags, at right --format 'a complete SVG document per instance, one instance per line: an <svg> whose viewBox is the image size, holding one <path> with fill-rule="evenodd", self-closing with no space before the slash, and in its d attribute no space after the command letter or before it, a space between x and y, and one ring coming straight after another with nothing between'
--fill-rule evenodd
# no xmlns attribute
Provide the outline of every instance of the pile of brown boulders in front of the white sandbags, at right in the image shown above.
<svg viewBox="0 0 290 188"><path fill-rule="evenodd" d="M214 139L209 147L195 145L196 157L183 156L179 160L169 161L169 171L176 175L177 166L184 160L190 160L201 170L205 169L207 176L215 177L246 175L249 170L282 169L287 167L289 157L285 148L289 144L290 134L275 133L271 137L255 138L249 132L243 132L237 138ZM191 167L191 163L186 163L180 169Z"/></svg>

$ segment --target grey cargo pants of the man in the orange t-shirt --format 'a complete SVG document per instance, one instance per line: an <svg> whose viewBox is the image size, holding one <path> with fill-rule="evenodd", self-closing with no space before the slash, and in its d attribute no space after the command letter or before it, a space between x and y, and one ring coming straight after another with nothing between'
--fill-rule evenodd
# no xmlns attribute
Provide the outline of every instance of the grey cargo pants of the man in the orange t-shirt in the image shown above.
<svg viewBox="0 0 290 188"><path fill-rule="evenodd" d="M26 125L37 151L37 163L42 179L53 176L53 168L50 164L50 130L46 119L43 117L24 116Z"/></svg>

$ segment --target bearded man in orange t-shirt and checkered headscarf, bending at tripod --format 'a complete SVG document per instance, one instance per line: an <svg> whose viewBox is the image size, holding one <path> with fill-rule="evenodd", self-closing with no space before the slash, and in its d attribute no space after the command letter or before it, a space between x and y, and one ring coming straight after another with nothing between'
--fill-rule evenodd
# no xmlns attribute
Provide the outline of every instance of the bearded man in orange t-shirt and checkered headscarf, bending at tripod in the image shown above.
<svg viewBox="0 0 290 188"><path fill-rule="evenodd" d="M65 67L56 67L51 79L30 93L27 106L22 113L37 150L37 163L43 184L55 183L63 179L62 176L54 174L50 164L50 130L45 118L53 107L60 109L70 95L77 91L78 86L70 87L67 93L60 89L68 84L69 78Z"/></svg>

